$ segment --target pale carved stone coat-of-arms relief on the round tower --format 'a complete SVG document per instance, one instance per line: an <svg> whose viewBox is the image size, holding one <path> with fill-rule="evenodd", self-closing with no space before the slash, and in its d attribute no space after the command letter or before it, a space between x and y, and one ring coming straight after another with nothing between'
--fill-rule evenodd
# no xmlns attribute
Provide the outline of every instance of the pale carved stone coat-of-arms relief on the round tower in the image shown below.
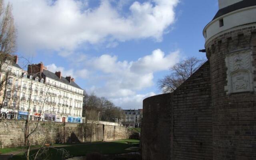
<svg viewBox="0 0 256 160"><path fill-rule="evenodd" d="M252 50L245 49L232 52L226 56L227 94L253 92Z"/></svg>

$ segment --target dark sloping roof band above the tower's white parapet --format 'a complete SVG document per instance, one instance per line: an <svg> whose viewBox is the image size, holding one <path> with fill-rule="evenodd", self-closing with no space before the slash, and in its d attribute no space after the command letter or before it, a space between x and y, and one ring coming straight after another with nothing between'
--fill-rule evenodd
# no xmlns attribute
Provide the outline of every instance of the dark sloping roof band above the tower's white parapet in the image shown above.
<svg viewBox="0 0 256 160"><path fill-rule="evenodd" d="M235 10L239 10L239 9L250 7L250 6L256 6L256 0L243 0L243 1L237 2L235 4L232 4L230 6L227 6L225 8L222 8L222 9L218 10L218 12L214 16L213 20L215 20L216 18L218 18L220 16L223 16L224 14L228 14Z"/></svg>

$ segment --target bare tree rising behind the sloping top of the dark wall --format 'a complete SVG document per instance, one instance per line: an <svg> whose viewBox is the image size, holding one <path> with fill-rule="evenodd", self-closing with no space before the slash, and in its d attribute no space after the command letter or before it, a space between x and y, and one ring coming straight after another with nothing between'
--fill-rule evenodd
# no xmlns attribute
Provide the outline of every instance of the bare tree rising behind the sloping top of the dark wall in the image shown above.
<svg viewBox="0 0 256 160"><path fill-rule="evenodd" d="M170 68L170 74L158 80L158 88L164 93L176 90L186 79L188 79L206 60L190 57Z"/></svg>

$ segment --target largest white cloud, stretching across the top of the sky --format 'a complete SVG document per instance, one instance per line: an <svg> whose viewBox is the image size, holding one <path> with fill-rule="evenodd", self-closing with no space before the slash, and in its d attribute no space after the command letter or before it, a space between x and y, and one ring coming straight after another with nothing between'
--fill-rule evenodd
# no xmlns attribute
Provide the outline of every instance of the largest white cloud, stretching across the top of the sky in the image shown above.
<svg viewBox="0 0 256 160"><path fill-rule="evenodd" d="M19 47L58 50L64 56L84 43L107 42L107 47L115 47L116 41L161 41L174 23L178 4L178 0L133 1L124 14L120 10L126 4L123 0L117 6L111 0L101 0L96 7L88 6L87 0L9 1L18 26Z"/></svg>

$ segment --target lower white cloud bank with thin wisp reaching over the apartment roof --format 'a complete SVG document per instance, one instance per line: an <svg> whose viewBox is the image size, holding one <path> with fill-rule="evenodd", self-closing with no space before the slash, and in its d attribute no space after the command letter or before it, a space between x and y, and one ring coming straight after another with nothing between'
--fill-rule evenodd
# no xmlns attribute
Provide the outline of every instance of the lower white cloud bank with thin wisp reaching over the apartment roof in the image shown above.
<svg viewBox="0 0 256 160"><path fill-rule="evenodd" d="M60 70L64 76L72 75L75 78L86 79L93 85L87 88L88 94L107 97L123 108L142 108L142 100L154 96L155 93L138 94L138 92L153 86L154 73L168 70L179 61L179 55L179 50L165 54L162 50L156 49L151 54L130 62L119 61L117 56L109 54L91 58L85 56L83 62L78 62L84 64L79 66L83 69L76 71L74 68L66 70L56 64L46 67L52 72Z"/></svg>

